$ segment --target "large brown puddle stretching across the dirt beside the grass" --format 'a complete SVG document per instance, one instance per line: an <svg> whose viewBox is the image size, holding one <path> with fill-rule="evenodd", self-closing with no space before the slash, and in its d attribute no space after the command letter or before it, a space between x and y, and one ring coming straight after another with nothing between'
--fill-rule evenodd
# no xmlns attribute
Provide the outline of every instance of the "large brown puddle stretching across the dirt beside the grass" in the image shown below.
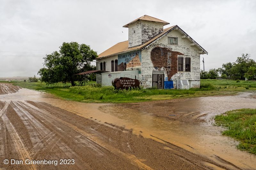
<svg viewBox="0 0 256 170"><path fill-rule="evenodd" d="M134 134L140 134L143 137L152 138L159 142L163 142L162 140L170 142L188 151L204 155L231 169L234 166L229 167L226 161L242 169L256 169L255 155L237 150L237 141L222 136L220 132L222 129L212 126L212 117L214 115L232 109L256 108L256 99L252 95L255 95L255 93L241 93L237 96L192 98L175 103L163 101L162 106L173 107L175 114L186 116L192 113L191 119L201 116L200 119L205 120L205 122L201 123L184 122L179 121L179 119L172 120L146 113L136 108L125 107L125 105L63 101L54 98L50 94L24 88L17 93L0 95L0 100L46 102L105 125L106 123L104 122L108 122L126 129L133 129ZM193 113L200 114L193 116Z"/></svg>

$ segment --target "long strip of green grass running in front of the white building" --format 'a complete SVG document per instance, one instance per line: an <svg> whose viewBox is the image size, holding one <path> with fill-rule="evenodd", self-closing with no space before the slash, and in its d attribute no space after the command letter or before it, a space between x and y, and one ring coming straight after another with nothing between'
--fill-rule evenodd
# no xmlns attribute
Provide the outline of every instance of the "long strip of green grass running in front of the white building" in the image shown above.
<svg viewBox="0 0 256 170"><path fill-rule="evenodd" d="M256 82L235 80L201 80L201 88L189 90L159 90L159 89L137 89L137 90L114 90L114 87L93 86L96 82L88 82L85 86L71 86L70 83L57 83L46 85L45 83L12 82L24 88L50 92L65 100L83 102L109 102L125 103L151 100L167 100L177 98L192 98L213 95L234 95L237 92L256 90Z"/></svg>

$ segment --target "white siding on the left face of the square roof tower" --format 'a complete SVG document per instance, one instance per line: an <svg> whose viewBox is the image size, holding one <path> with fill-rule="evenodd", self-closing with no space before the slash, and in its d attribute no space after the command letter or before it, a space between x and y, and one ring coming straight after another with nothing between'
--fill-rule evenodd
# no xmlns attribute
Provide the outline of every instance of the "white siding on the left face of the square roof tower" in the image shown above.
<svg viewBox="0 0 256 170"><path fill-rule="evenodd" d="M128 29L129 29L128 47L141 45L141 22L137 21L131 24Z"/></svg>

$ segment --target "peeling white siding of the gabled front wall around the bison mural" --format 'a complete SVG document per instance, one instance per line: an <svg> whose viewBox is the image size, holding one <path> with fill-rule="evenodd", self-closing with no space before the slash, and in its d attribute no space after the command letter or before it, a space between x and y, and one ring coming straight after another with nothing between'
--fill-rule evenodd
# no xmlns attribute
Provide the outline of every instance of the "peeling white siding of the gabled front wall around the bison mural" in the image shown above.
<svg viewBox="0 0 256 170"><path fill-rule="evenodd" d="M200 86L200 50L196 46L190 46L191 41L189 41L187 38L181 38L181 36L183 36L182 33L180 33L178 30L173 30L168 33L168 36L164 36L154 44L166 44L172 48L172 51L178 51L184 54L183 57L191 57L191 72L180 71L173 75L172 80L174 87L176 87L175 80L177 79L188 79L191 86L198 87L198 85ZM168 37L178 37L178 45L169 45L167 42ZM152 87L152 71L156 70L150 58L152 49L153 48L145 49L141 52L141 76L144 87ZM185 68L185 62L183 67ZM164 73L164 77L167 77L166 71Z"/></svg>

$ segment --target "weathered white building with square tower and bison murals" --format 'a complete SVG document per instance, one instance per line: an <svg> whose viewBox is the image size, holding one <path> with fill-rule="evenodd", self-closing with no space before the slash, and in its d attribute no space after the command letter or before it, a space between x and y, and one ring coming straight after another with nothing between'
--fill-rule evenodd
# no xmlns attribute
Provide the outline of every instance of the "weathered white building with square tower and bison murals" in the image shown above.
<svg viewBox="0 0 256 170"><path fill-rule="evenodd" d="M179 26L164 29L168 24L144 15L124 25L129 30L128 41L99 54L97 70L110 71L105 73L108 79L116 78L115 72L126 71L123 75L132 78L136 73L144 88L200 87L200 54L208 52ZM103 77L98 74L97 83L103 83Z"/></svg>

